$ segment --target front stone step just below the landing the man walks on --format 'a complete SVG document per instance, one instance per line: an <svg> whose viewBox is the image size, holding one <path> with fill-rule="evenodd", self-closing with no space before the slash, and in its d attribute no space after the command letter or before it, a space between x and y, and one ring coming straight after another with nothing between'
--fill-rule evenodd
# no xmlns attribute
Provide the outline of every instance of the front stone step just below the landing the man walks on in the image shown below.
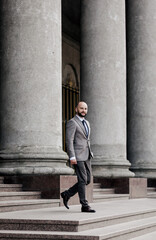
<svg viewBox="0 0 156 240"><path fill-rule="evenodd" d="M156 217L137 221L120 223L97 229L81 232L54 232L54 231L4 231L0 230L0 238L5 239L53 239L53 240L127 240L134 237L151 234L156 230ZM144 239L144 238L141 238ZM149 239L148 239L149 240ZM152 239L154 240L154 239Z"/></svg>

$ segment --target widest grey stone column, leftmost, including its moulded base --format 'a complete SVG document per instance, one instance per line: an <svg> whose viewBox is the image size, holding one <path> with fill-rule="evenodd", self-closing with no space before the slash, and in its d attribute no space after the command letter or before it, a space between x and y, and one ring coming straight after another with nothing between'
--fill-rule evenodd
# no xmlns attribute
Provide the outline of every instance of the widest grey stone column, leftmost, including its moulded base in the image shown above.
<svg viewBox="0 0 156 240"><path fill-rule="evenodd" d="M68 174L61 0L1 0L0 173Z"/></svg>

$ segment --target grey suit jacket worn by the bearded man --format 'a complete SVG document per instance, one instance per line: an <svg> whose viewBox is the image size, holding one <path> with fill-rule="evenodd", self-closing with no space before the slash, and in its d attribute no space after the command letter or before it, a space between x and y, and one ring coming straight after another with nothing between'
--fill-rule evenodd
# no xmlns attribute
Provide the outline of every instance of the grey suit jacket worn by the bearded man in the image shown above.
<svg viewBox="0 0 156 240"><path fill-rule="evenodd" d="M88 137L81 120L75 116L66 126L66 147L69 158L76 157L77 161L86 161L93 157L90 148L90 124L86 120L89 133Z"/></svg>

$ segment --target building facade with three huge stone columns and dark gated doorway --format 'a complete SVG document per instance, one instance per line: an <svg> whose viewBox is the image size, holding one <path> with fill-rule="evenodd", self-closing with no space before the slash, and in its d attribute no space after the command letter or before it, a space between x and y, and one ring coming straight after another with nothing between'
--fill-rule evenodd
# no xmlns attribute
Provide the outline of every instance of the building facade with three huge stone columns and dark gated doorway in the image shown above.
<svg viewBox="0 0 156 240"><path fill-rule="evenodd" d="M93 175L156 178L156 2L1 0L0 174L68 175L89 106Z"/></svg>

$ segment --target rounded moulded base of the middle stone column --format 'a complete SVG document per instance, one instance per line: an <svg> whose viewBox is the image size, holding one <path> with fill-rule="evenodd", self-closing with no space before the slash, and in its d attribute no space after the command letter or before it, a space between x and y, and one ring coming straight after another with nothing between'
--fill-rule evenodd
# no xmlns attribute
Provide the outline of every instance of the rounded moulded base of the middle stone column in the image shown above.
<svg viewBox="0 0 156 240"><path fill-rule="evenodd" d="M92 161L94 177L118 178L134 177L135 174L129 170L131 164L126 159L102 159L95 158Z"/></svg>

